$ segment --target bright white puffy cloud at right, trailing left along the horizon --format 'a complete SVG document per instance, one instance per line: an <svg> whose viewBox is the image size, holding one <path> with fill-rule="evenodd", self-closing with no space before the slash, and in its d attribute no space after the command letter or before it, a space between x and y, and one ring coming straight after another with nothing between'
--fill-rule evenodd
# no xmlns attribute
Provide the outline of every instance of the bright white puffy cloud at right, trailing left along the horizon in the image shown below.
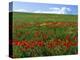
<svg viewBox="0 0 80 60"><path fill-rule="evenodd" d="M33 11L33 13L50 13L50 14L67 14L70 10L70 8L67 7L54 7L54 8L49 8L48 11L40 11L36 10Z"/></svg>

